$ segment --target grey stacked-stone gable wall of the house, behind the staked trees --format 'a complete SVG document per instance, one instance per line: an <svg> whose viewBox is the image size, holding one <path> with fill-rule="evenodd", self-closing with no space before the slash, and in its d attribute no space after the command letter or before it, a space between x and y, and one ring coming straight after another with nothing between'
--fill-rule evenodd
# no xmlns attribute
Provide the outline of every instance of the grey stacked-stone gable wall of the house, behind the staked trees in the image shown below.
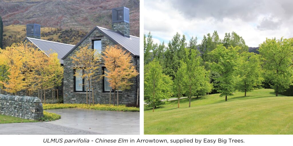
<svg viewBox="0 0 293 146"><path fill-rule="evenodd" d="M86 92L74 92L74 69L73 67L77 67L72 63L71 56L74 55L76 51L79 50L79 47L83 47L89 45L89 48L92 48L92 37L102 36L102 51L105 50L106 46L114 46L115 43L108 39L106 36L103 36L98 30L95 30L92 34L90 34L74 51L72 51L65 59L64 59L64 86L63 86L63 99L64 103L86 103ZM136 58L132 60L132 63L135 65ZM139 58L138 58L138 68L139 68ZM103 75L103 64L100 64L100 67L97 69L95 75L101 76ZM122 91L119 93L119 104L133 104L136 103L137 100L137 84L136 78L132 79L133 85L129 90ZM109 92L103 92L103 79L92 81L94 90L94 102L100 104L108 104L109 103ZM117 94L117 93L116 93ZM112 93L112 103L113 103L113 93ZM117 100L115 99L115 103Z"/></svg>

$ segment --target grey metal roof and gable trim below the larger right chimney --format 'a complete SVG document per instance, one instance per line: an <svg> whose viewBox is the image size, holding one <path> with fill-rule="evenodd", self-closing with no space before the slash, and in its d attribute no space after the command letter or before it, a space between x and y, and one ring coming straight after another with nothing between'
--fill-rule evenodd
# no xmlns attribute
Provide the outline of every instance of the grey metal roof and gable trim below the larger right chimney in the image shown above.
<svg viewBox="0 0 293 146"><path fill-rule="evenodd" d="M98 30L103 35L107 36L115 44L120 44L124 49L128 50L132 55L139 56L139 37L131 36L125 37L119 31L113 31L103 27L94 27L79 43L77 43L62 59L65 59L75 48L77 48L93 31Z"/></svg>

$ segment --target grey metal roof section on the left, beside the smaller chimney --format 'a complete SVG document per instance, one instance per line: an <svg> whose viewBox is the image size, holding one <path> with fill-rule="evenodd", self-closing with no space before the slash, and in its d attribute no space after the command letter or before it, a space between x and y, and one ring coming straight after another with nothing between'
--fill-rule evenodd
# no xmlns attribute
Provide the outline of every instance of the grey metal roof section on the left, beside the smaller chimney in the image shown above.
<svg viewBox="0 0 293 146"><path fill-rule="evenodd" d="M31 43L33 43L41 51L44 51L45 54L48 53L52 49L52 51L55 51L58 54L58 59L60 60L61 64L63 64L62 58L64 57L64 55L66 55L74 47L74 45L63 44L63 43L58 43L54 41L46 41L46 40L35 39L30 37L26 37L25 40L28 40ZM48 54L46 55L48 56Z"/></svg>

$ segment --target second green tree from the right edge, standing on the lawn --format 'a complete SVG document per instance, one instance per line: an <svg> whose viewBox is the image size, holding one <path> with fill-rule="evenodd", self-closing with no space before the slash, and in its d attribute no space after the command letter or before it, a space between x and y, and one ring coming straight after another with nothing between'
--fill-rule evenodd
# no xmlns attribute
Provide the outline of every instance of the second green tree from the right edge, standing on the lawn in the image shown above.
<svg viewBox="0 0 293 146"><path fill-rule="evenodd" d="M262 84L263 69L260 55L255 53L243 52L239 57L238 74L240 80L237 89L241 92L250 92Z"/></svg>

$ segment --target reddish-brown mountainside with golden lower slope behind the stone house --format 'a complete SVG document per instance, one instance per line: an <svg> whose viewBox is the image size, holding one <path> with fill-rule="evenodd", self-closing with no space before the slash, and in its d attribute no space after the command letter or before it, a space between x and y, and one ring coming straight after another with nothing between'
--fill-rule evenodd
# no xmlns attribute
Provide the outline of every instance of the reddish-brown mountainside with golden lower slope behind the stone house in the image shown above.
<svg viewBox="0 0 293 146"><path fill-rule="evenodd" d="M13 38L16 41L20 40L20 38L23 39L23 36L19 36L19 34L23 34L22 25L38 23L42 26L42 30L44 28L58 28L61 30L58 32L59 34L55 33L56 36L48 35L48 38L43 37L42 39L50 38L52 41L74 44L74 42L65 40L66 36L63 40L63 36L59 39L59 35L63 33L68 35L68 39L71 39L70 34L67 34L70 29L74 31L74 34L87 33L94 26L111 29L111 10L120 6L125 6L130 9L130 34L139 36L139 0L6 0L0 1L0 16L4 23L4 35L7 35L4 38L6 39L9 35L9 39ZM19 25L21 29L5 29L5 27L12 25ZM79 39L79 36L76 36L75 39ZM11 42L12 40L6 40L4 45L10 46Z"/></svg>

